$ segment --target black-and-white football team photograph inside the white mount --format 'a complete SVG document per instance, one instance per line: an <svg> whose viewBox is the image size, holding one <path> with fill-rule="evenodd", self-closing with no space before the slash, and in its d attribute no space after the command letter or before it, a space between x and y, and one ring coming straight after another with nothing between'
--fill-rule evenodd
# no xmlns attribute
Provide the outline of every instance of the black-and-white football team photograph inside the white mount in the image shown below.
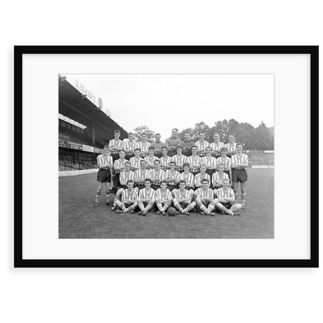
<svg viewBox="0 0 323 323"><path fill-rule="evenodd" d="M274 74L57 81L59 238L274 238Z"/></svg>

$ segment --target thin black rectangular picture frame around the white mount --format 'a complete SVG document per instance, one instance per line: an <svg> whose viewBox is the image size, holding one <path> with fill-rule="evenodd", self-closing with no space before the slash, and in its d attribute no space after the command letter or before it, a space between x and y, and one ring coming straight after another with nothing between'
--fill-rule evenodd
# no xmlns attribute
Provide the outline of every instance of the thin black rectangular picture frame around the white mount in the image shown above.
<svg viewBox="0 0 323 323"><path fill-rule="evenodd" d="M318 145L318 46L15 46L14 152L21 155L24 54L309 54L310 149ZM21 159L19 160L21 161ZM15 161L15 163L17 163ZM317 157L310 159L310 259L23 259L22 198L15 200L14 267L318 267ZM18 175L19 169L19 175ZM17 174L16 174L17 172ZM21 193L15 165L15 196Z"/></svg>

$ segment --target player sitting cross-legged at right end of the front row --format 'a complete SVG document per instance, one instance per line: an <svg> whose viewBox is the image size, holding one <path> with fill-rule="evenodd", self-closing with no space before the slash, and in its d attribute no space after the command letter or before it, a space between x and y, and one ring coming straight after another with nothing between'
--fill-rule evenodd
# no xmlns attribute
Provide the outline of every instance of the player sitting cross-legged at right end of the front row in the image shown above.
<svg viewBox="0 0 323 323"><path fill-rule="evenodd" d="M219 200L217 209L222 214L229 214L229 216L239 216L238 211L241 209L241 204L234 203L234 192L229 187L229 179L224 178L222 180L223 187L217 191L217 198Z"/></svg>

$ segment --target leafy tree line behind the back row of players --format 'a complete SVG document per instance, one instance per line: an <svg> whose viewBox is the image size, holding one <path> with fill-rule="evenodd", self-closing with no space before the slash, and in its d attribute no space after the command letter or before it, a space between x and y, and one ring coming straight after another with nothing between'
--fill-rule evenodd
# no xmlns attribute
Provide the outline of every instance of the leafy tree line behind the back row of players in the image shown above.
<svg viewBox="0 0 323 323"><path fill-rule="evenodd" d="M148 141L154 141L155 132L147 126L139 126L134 128L134 137L140 140L140 134L146 132ZM263 121L257 128L254 128L247 122L237 122L234 119L222 120L214 122L213 126L207 125L205 122L198 122L194 127L183 129L178 133L178 137L184 140L184 134L189 133L192 141L199 139L199 133L204 132L205 140L213 141L213 133L220 134L220 141L228 142L229 134L232 133L236 137L236 142L243 143L243 148L248 150L274 150L274 127L266 127Z"/></svg>

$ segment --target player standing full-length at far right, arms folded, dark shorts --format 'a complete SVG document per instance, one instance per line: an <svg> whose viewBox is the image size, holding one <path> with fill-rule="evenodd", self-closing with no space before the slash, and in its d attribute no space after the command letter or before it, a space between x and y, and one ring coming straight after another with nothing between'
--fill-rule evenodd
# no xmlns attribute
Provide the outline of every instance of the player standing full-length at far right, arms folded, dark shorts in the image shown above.
<svg viewBox="0 0 323 323"><path fill-rule="evenodd" d="M231 168L232 168L232 186L234 190L235 203L238 199L238 185L240 182L241 188L241 205L245 208L244 204L246 202L246 182L248 180L247 171L248 167L248 155L242 153L242 143L237 143L237 153L231 157Z"/></svg>

